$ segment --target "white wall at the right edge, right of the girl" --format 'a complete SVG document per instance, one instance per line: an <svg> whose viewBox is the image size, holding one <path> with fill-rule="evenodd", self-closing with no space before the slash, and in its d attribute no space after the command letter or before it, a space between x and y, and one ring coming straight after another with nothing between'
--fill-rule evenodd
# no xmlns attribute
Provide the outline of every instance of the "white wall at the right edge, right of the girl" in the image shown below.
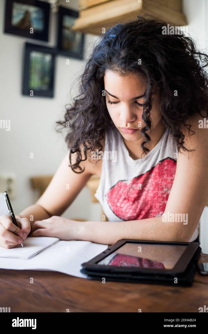
<svg viewBox="0 0 208 334"><path fill-rule="evenodd" d="M196 40L198 47L208 52L208 1L183 0L183 12L188 21L188 33ZM193 194L194 195L194 194ZM202 252L208 254L208 206L200 219L200 242Z"/></svg>

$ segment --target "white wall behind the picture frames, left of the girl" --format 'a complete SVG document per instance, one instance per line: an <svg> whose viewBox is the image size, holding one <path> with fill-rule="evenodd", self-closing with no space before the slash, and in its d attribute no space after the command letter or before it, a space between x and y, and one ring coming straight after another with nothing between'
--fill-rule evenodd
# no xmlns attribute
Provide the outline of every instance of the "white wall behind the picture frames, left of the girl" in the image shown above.
<svg viewBox="0 0 208 334"><path fill-rule="evenodd" d="M78 1L70 1L64 6L78 9ZM38 199L31 189L29 179L35 175L54 174L67 152L64 134L55 131L55 122L63 119L64 106L75 97L75 90L69 96L72 81L84 69L86 60L57 56L55 64L54 98L27 97L21 95L24 43L55 46L57 15L50 13L49 42L27 39L5 34L5 1L0 1L0 104L2 120L11 120L11 130L0 129L0 174L14 173L16 176L16 198L12 200L14 212L18 214ZM95 40L93 35L85 35L87 53ZM73 93L74 92L74 93ZM30 159L30 152L34 158ZM100 220L101 206L91 203L90 192L84 187L64 215L68 218L80 217L86 220Z"/></svg>

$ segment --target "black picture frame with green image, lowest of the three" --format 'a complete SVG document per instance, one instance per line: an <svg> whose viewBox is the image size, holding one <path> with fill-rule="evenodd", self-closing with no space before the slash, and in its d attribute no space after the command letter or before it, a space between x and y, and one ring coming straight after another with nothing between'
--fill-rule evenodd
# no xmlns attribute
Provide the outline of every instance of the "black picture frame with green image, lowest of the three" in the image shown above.
<svg viewBox="0 0 208 334"><path fill-rule="evenodd" d="M31 57L33 56L33 62L34 62L34 52L36 52L36 57L42 57L43 59L43 55L38 53L45 53L47 56L48 54L51 55L50 57L50 64L49 64L49 68L48 68L48 73L50 73L50 75L48 75L48 77L46 76L47 79L50 79L49 83L48 83L48 89L35 89L33 87L33 85L30 83L30 79L31 79ZM31 52L33 52L33 55L31 55ZM56 49L55 48L51 48L51 47L47 47L47 46L42 46L42 45L37 45L37 44L31 44L31 43L25 43L25 56L24 56L24 74L23 74L23 82L22 82L22 94L23 95L27 95L30 96L31 95L31 91L33 91L33 96L42 96L42 97L50 97L53 98L54 96L54 70L55 70L55 55L56 55ZM49 57L48 57L49 58ZM41 62L38 59L37 60L38 66L40 66ZM44 64L43 64L44 65ZM46 63L47 65L47 63ZM46 68L43 67L44 71L46 71ZM37 75L37 73L35 72L35 74ZM44 78L41 78L42 80L42 86L44 87L44 85L46 86L46 84L44 83ZM47 81L47 80L45 80Z"/></svg>

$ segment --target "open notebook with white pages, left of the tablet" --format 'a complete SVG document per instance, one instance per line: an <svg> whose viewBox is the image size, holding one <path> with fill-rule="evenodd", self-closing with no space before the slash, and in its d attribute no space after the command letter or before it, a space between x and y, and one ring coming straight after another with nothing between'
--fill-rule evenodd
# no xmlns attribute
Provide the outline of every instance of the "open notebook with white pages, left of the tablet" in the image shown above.
<svg viewBox="0 0 208 334"><path fill-rule="evenodd" d="M27 237L24 247L0 246L0 268L13 270L49 270L87 278L81 264L105 251L108 245L83 240L59 240L47 236ZM17 258L18 257L18 258Z"/></svg>

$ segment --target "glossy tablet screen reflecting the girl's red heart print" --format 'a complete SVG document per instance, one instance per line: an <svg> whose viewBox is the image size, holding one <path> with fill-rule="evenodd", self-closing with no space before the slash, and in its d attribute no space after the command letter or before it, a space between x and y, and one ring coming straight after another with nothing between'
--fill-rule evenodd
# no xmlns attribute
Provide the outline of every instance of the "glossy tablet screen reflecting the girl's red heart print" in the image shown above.
<svg viewBox="0 0 208 334"><path fill-rule="evenodd" d="M187 245L127 242L97 264L122 267L172 269L186 247Z"/></svg>

